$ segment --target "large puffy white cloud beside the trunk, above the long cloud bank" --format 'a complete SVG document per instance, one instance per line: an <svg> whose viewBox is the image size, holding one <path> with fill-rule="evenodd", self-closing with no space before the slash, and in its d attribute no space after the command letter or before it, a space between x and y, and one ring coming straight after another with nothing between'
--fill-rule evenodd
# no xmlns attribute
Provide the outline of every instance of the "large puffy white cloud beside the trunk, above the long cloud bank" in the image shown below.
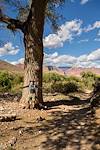
<svg viewBox="0 0 100 150"><path fill-rule="evenodd" d="M62 47L65 41L71 41L75 36L81 34L81 25L81 20L72 20L65 22L65 24L60 26L57 33L49 34L47 37L44 38L44 47Z"/></svg>

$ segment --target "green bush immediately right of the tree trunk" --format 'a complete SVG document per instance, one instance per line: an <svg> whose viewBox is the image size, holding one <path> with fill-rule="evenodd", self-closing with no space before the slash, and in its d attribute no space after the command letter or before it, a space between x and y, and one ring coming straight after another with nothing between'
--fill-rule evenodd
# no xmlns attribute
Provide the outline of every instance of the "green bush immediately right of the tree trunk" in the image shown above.
<svg viewBox="0 0 100 150"><path fill-rule="evenodd" d="M80 79L73 76L66 77L57 73L46 73L43 76L43 81L44 92L67 94L78 91Z"/></svg>

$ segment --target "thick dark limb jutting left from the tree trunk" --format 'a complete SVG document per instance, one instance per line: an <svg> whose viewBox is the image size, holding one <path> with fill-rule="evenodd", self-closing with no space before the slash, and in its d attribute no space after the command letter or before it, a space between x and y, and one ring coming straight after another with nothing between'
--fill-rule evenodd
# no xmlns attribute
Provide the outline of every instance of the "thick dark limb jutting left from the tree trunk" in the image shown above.
<svg viewBox="0 0 100 150"><path fill-rule="evenodd" d="M22 32L24 32L24 23L17 20L17 19L12 19L8 16L0 14L0 22L4 22L7 24L7 28L10 30L16 30L20 29Z"/></svg>

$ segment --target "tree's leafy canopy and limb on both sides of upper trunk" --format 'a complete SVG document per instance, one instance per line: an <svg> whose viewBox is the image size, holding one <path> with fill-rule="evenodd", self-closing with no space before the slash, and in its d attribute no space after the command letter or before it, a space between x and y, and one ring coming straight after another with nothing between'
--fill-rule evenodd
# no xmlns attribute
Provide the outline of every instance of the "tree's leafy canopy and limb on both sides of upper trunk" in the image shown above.
<svg viewBox="0 0 100 150"><path fill-rule="evenodd" d="M32 0L1 0L0 21L6 23L8 29L21 29L24 32L23 26L27 21L31 10L31 3ZM57 12L57 7L61 6L63 3L64 0L47 1L45 19L51 22L54 29L57 29L57 21L58 18L61 17L61 15Z"/></svg>

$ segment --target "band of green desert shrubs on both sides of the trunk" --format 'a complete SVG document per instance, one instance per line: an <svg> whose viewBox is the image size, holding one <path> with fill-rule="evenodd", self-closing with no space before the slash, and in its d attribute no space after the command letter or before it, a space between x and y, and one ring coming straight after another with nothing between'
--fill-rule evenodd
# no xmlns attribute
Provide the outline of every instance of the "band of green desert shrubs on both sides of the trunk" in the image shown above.
<svg viewBox="0 0 100 150"><path fill-rule="evenodd" d="M95 82L100 79L92 72L82 72L80 77L64 76L55 72L43 74L44 93L68 94L85 90L93 90ZM0 92L19 93L22 92L23 75L0 71Z"/></svg>

